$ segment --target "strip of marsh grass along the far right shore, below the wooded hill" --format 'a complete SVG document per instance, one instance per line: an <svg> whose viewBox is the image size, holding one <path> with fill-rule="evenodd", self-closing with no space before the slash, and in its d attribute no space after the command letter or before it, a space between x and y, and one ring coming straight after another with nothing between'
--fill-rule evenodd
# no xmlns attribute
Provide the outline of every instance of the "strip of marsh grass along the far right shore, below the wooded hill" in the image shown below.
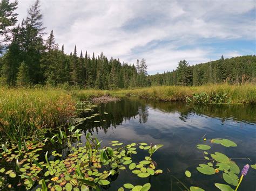
<svg viewBox="0 0 256 191"><path fill-rule="evenodd" d="M210 96L210 98L223 96L228 103L256 103L256 86L253 84L242 86L212 84L198 87L160 86L111 92L111 94L116 95L138 96L159 101L186 101L187 97L193 98L194 94L200 95L203 93Z"/></svg>

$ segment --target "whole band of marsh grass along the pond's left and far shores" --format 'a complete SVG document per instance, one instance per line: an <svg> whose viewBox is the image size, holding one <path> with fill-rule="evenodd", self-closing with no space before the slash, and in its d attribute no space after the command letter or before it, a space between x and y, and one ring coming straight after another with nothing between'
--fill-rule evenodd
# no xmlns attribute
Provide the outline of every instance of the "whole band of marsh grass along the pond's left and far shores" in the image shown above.
<svg viewBox="0 0 256 191"><path fill-rule="evenodd" d="M149 100L199 101L223 99L221 103L256 103L256 86L227 84L200 87L149 87L126 90L63 90L58 88L0 89L0 132L2 137L17 140L38 131L65 124L76 115L76 103L94 97L137 96ZM217 100L218 101L218 100Z"/></svg>

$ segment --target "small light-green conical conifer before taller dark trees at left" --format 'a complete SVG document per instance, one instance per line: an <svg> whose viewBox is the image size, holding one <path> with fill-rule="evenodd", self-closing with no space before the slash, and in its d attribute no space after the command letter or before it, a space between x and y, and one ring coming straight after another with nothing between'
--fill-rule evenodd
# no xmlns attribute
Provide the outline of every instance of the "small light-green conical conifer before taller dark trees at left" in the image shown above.
<svg viewBox="0 0 256 191"><path fill-rule="evenodd" d="M17 74L17 86L25 87L29 86L30 78L29 78L29 67L26 65L25 62L21 63L19 66L18 74Z"/></svg>

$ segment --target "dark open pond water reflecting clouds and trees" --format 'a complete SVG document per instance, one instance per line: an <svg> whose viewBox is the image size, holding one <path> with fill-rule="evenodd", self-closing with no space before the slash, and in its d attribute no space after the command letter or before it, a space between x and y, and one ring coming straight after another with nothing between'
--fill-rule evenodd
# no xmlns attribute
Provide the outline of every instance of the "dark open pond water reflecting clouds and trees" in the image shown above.
<svg viewBox="0 0 256 191"><path fill-rule="evenodd" d="M104 115L104 111L108 114ZM117 180L111 182L109 190L117 190L124 183L143 185L146 182L151 182L152 190L171 190L171 186L173 190L185 190L171 175L188 188L198 186L205 190L218 190L214 183L225 183L221 172L203 175L196 169L198 164L205 162L202 160L203 152L196 148L197 144L205 143L202 139L204 135L207 138L206 144L210 144L209 139L212 138L227 138L237 143L238 147L210 144L212 148L209 152L218 151L234 158L232 160L237 162L240 169L245 164L256 162L256 105L188 106L184 103L148 102L132 98L99 104L93 113L100 115L86 121L79 128L96 135L99 140L103 140L103 145L108 146L111 140L119 140L124 144L164 144L152 156L158 168L163 169L163 174L141 179L122 171ZM93 113L85 113L83 116ZM148 155L147 151L139 148L137 151L137 161ZM252 161L236 158L250 158ZM191 178L186 178L186 170L192 173ZM239 190L255 189L256 170L251 168Z"/></svg>

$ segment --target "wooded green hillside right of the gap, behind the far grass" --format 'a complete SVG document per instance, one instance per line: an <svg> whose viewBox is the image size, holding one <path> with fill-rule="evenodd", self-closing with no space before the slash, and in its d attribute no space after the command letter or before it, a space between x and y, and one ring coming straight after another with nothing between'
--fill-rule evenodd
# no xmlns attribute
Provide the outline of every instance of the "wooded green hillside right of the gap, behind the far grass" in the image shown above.
<svg viewBox="0 0 256 191"><path fill-rule="evenodd" d="M148 76L151 86L201 86L207 83L256 82L255 55L221 59L189 66L181 60L176 70Z"/></svg>

